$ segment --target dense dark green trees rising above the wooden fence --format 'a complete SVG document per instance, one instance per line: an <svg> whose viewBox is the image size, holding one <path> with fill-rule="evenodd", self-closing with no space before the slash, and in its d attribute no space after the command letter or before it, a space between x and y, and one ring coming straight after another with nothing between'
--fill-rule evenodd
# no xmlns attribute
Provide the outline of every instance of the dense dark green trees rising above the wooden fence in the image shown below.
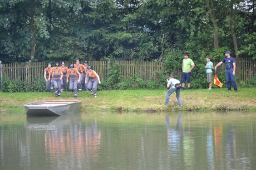
<svg viewBox="0 0 256 170"><path fill-rule="evenodd" d="M15 61L256 58L255 0L0 0L0 57Z"/></svg>

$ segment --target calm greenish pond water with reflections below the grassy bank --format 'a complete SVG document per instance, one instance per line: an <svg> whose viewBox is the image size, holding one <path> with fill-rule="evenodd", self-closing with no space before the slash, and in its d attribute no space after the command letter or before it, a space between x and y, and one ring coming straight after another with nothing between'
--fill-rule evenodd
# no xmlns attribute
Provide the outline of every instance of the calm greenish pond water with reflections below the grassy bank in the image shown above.
<svg viewBox="0 0 256 170"><path fill-rule="evenodd" d="M0 169L255 169L252 112L0 114Z"/></svg>

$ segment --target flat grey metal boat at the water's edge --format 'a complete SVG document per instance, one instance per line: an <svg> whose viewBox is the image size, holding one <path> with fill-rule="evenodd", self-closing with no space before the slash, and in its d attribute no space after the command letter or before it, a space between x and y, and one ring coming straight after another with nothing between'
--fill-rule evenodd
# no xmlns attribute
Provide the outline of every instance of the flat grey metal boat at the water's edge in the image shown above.
<svg viewBox="0 0 256 170"><path fill-rule="evenodd" d="M61 116L80 113L81 100L48 100L25 104L27 116Z"/></svg>

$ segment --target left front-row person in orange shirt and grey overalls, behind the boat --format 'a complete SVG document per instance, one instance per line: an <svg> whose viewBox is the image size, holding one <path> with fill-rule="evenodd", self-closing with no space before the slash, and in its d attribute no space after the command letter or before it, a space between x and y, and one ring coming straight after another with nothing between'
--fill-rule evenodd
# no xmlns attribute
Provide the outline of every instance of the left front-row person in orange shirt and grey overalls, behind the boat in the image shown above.
<svg viewBox="0 0 256 170"><path fill-rule="evenodd" d="M55 67L51 69L50 74L52 75L52 82L53 82L53 87L55 91L55 96L60 96L61 95L61 79L63 77L63 74L58 62L55 64Z"/></svg>

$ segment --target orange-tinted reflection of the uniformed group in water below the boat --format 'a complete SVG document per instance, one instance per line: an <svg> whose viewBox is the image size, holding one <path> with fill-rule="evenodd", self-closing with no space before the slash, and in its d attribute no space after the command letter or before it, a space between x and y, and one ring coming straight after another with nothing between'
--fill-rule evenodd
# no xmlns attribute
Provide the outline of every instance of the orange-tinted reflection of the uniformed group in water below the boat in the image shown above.
<svg viewBox="0 0 256 170"><path fill-rule="evenodd" d="M97 161L101 140L97 121L83 125L79 123L46 131L46 156L51 159L48 161L55 162L57 169L90 167L90 161Z"/></svg>

